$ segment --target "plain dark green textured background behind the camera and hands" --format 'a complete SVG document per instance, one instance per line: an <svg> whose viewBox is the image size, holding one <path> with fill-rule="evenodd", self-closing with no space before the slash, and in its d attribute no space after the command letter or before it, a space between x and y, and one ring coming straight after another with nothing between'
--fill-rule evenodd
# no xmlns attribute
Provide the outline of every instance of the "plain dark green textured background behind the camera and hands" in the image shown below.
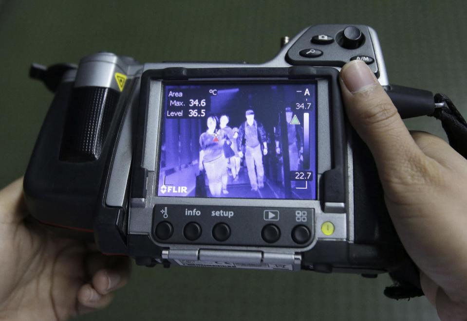
<svg viewBox="0 0 467 321"><path fill-rule="evenodd" d="M23 175L53 98L30 63L78 62L98 51L139 61L261 63L319 23L379 34L391 83L448 94L467 114L465 1L0 0L0 186ZM443 136L428 117L413 129ZM387 276L134 267L109 308L76 320L438 320L425 298L392 301Z"/></svg>

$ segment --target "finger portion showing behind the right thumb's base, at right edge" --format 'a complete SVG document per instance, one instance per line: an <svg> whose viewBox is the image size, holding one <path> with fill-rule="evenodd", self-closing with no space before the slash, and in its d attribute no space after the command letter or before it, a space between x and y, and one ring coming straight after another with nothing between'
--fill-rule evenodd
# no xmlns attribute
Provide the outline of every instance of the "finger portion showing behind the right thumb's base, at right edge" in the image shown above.
<svg viewBox="0 0 467 321"><path fill-rule="evenodd" d="M415 143L428 157L454 171L466 170L465 158L438 136L423 131L411 131L410 133Z"/></svg>

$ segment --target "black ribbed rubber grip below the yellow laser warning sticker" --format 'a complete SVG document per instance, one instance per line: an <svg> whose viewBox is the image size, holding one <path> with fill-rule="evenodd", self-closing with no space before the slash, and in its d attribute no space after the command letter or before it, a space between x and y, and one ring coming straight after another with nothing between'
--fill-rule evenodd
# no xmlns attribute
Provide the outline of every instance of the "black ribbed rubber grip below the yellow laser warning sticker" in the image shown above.
<svg viewBox="0 0 467 321"><path fill-rule="evenodd" d="M99 159L120 93L104 87L73 90L65 121L60 160Z"/></svg>

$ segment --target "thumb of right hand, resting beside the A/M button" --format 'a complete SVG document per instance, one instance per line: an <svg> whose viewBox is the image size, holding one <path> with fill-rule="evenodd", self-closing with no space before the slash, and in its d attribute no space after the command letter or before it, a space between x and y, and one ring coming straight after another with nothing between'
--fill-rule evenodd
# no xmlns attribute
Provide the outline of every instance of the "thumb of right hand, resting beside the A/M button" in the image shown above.
<svg viewBox="0 0 467 321"><path fill-rule="evenodd" d="M341 70L340 85L346 113L352 126L370 148L378 169L392 174L422 155L396 107L373 72L359 60L347 63ZM403 169L402 169L403 170Z"/></svg>

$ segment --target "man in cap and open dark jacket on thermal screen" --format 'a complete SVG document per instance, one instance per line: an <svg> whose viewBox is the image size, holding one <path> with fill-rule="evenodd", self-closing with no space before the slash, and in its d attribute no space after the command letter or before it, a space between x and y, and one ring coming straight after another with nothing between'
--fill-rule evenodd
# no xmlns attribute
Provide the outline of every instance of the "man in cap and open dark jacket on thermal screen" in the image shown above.
<svg viewBox="0 0 467 321"><path fill-rule="evenodd" d="M239 156L245 156L251 190L258 191L258 188L264 187L262 156L267 155L266 131L263 125L255 120L255 112L252 109L245 112L245 117L246 121L239 129Z"/></svg>

